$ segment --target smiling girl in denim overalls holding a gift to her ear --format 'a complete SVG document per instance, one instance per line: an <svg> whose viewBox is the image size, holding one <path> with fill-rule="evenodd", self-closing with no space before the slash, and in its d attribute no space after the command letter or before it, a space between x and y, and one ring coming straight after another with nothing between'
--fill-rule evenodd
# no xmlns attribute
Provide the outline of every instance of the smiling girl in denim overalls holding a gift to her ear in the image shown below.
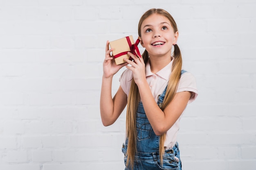
<svg viewBox="0 0 256 170"><path fill-rule="evenodd" d="M126 141L122 152L126 170L181 170L177 131L186 105L197 97L195 78L182 69L173 17L150 9L138 25L142 58L115 65L109 41L103 62L100 110L104 126L113 124L127 105ZM172 56L172 46L174 46ZM128 66L130 64L130 66ZM120 87L112 98L113 75L122 67Z"/></svg>

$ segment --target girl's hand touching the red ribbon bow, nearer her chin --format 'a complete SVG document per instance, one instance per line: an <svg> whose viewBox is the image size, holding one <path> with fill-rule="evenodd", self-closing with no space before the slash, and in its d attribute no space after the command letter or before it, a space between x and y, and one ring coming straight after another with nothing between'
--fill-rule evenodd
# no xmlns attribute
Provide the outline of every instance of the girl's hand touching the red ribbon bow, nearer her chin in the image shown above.
<svg viewBox="0 0 256 170"><path fill-rule="evenodd" d="M135 53L137 54L136 51ZM143 58L139 57L138 54L137 56L135 56L131 52L128 52L128 55L132 57L133 61L130 61L129 59L124 59L124 61L131 65L126 65L126 68L132 71L133 79L135 83L138 85L139 83L146 81L145 63Z"/></svg>

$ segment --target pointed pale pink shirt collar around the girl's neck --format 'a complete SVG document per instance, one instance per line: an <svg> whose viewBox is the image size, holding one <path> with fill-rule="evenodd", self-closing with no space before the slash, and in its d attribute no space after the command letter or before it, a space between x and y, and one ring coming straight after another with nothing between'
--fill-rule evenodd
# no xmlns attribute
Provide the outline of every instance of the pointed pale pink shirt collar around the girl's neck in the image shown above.
<svg viewBox="0 0 256 170"><path fill-rule="evenodd" d="M171 70L172 70L172 66L173 66L173 57L171 57L171 62L168 63L164 68L162 68L161 70L159 70L156 74L157 76L160 76L162 78L164 78L165 80L168 80L171 76ZM146 63L146 77L147 76L152 76L154 73L151 72L150 69L150 61L148 61L148 63Z"/></svg>

